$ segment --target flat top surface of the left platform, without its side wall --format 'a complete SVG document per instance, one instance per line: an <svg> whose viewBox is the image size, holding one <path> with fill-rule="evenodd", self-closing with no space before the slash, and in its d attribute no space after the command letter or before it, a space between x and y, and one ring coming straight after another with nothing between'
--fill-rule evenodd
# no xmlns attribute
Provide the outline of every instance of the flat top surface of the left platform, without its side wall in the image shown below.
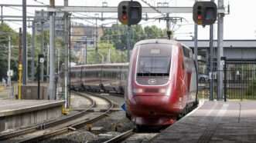
<svg viewBox="0 0 256 143"><path fill-rule="evenodd" d="M55 100L0 100L0 117L43 110L63 103Z"/></svg>

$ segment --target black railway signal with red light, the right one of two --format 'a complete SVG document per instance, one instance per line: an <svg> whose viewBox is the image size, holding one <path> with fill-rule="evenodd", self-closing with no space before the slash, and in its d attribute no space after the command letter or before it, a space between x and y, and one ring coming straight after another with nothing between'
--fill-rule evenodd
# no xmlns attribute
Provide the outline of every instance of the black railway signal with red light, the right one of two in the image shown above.
<svg viewBox="0 0 256 143"><path fill-rule="evenodd" d="M196 2L193 20L197 25L212 25L217 20L217 5L214 2Z"/></svg>

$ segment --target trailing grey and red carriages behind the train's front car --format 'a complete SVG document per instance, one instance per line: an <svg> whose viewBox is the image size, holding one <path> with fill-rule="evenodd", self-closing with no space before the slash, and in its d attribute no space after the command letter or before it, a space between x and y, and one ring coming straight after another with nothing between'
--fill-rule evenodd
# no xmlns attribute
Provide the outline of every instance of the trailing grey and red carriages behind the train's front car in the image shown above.
<svg viewBox="0 0 256 143"><path fill-rule="evenodd" d="M71 88L124 94L128 63L75 65L71 67Z"/></svg>

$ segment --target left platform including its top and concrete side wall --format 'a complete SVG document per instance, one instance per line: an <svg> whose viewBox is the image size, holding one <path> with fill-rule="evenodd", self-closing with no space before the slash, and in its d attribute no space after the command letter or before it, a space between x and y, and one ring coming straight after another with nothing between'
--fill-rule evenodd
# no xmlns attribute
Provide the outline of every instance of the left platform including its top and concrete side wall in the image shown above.
<svg viewBox="0 0 256 143"><path fill-rule="evenodd" d="M49 100L0 100L0 133L59 118L63 103Z"/></svg>

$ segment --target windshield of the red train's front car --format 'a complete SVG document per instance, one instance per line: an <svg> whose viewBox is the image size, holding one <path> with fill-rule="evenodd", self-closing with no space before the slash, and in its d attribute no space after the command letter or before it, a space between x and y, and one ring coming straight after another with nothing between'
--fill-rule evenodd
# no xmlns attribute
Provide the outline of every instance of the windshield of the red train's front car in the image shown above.
<svg viewBox="0 0 256 143"><path fill-rule="evenodd" d="M138 55L137 76L169 76L171 56L170 45L142 45Z"/></svg>

